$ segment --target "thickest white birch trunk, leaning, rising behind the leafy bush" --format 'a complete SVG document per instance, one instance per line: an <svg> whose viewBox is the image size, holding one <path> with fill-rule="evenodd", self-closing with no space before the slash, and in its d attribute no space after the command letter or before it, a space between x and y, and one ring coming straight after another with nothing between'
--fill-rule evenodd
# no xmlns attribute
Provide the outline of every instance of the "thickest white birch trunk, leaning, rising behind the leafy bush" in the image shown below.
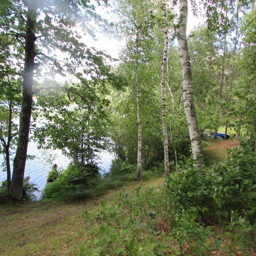
<svg viewBox="0 0 256 256"><path fill-rule="evenodd" d="M198 122L196 117L196 110L194 107L192 96L192 72L190 66L190 57L188 53L188 42L186 36L186 28L188 21L188 2L187 0L180 0L180 24L178 28L177 38L180 50L180 61L182 66L182 80L183 80L183 102L188 123L188 131L192 147L192 156L197 161L195 166L202 169L202 143Z"/></svg>

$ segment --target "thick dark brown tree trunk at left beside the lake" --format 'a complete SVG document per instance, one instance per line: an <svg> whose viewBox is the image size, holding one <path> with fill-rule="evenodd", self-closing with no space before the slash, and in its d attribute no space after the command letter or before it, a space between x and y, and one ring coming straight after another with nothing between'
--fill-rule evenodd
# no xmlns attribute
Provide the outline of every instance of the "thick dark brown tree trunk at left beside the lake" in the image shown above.
<svg viewBox="0 0 256 256"><path fill-rule="evenodd" d="M28 1L26 35L25 35L25 65L23 73L22 109L20 112L19 137L16 156L13 162L12 182L10 195L20 200L28 149L30 117L32 111L33 73L35 68L35 23L36 1Z"/></svg>

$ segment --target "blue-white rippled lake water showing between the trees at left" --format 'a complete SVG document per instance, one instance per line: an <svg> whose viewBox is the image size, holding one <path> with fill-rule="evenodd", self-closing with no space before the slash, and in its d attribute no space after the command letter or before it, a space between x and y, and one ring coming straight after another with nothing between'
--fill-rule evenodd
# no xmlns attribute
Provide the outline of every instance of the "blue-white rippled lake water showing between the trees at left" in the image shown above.
<svg viewBox="0 0 256 256"><path fill-rule="evenodd" d="M28 154L35 156L35 158L26 160L24 177L30 176L30 182L36 183L40 191L46 184L48 172L52 170L52 164L48 161L49 158L53 164L58 164L57 170L66 168L70 163L70 159L64 156L60 150L48 150L45 154L44 151L38 150L35 142L28 143ZM54 157L51 155L54 155ZM99 160L97 162L102 174L109 172L113 158L114 156L109 152L104 151L99 153ZM3 160L3 155L0 154L0 163L2 163ZM3 167L0 167L0 182L6 180L6 172L2 170ZM36 193L36 196L40 198L41 192Z"/></svg>

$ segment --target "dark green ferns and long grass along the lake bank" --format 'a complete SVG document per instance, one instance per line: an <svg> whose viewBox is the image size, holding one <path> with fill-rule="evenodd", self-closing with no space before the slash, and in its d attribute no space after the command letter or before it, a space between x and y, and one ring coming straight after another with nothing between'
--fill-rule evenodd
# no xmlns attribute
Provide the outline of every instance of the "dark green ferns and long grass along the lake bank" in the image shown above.
<svg viewBox="0 0 256 256"><path fill-rule="evenodd" d="M145 170L142 179L159 177L162 164ZM48 173L49 181L42 191L41 200L74 201L98 196L110 189L123 186L125 182L136 180L136 166L125 164L120 159L113 160L110 173L104 177L96 164L70 164L66 170L53 168Z"/></svg>

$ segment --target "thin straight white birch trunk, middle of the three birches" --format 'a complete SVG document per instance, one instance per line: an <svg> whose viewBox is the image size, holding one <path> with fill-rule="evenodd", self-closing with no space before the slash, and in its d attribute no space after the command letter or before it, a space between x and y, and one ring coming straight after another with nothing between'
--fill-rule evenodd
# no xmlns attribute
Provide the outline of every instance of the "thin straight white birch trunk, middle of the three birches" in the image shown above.
<svg viewBox="0 0 256 256"><path fill-rule="evenodd" d="M164 55L161 65L161 102L162 102L162 122L163 122L163 136L164 136L164 173L165 176L169 174L169 154L168 154L168 134L166 128L166 90L165 90L165 70L167 62L167 50L168 50L168 34L167 34L167 25L166 25L166 2L163 0L163 30L164 30Z"/></svg>

